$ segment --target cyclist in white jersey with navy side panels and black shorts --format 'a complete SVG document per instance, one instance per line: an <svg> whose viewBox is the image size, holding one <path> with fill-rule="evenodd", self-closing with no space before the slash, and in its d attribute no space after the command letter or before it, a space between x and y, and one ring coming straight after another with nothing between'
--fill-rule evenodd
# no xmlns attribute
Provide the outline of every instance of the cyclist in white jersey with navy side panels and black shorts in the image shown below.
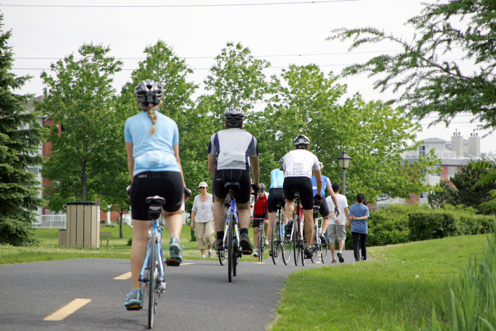
<svg viewBox="0 0 496 331"><path fill-rule="evenodd" d="M225 225L225 197L228 193L224 187L227 182L238 182L240 188L234 192L240 225L240 246L243 254L251 254L253 247L249 241L248 228L251 224L249 210L251 178L260 190L260 166L258 160L257 140L249 132L242 130L245 113L239 107L227 108L224 112L225 130L210 137L208 143L208 171L212 175L212 193L214 193L214 222L216 241L214 249L223 249Z"/></svg>

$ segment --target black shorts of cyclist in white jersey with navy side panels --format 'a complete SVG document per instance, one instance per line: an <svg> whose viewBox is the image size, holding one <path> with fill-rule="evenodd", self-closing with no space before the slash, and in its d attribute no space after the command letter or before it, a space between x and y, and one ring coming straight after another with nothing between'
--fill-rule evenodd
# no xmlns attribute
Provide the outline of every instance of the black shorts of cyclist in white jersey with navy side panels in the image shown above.
<svg viewBox="0 0 496 331"><path fill-rule="evenodd" d="M225 198L229 190L224 187L227 182L238 182L241 187L234 192L234 197L238 204L246 204L250 201L251 193L251 178L249 170L240 169L224 169L214 172L214 180L212 182L212 193L220 199Z"/></svg>

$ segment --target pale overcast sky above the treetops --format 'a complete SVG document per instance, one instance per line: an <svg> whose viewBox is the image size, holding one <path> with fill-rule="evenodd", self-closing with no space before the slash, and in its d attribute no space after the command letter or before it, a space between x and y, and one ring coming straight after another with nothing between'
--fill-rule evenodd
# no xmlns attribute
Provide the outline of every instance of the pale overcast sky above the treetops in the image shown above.
<svg viewBox="0 0 496 331"><path fill-rule="evenodd" d="M129 80L132 70L143 60L143 50L164 40L177 56L185 58L195 73L190 80L201 84L227 42L241 42L253 56L271 62L266 75L280 73L288 64L314 63L325 73L340 73L345 65L364 62L379 52L395 51L395 45L367 45L352 53L347 44L328 41L338 27L384 29L412 39L413 29L404 25L420 13L421 0L3 0L4 30L12 29L9 45L15 53L14 73L33 79L16 93L42 95L40 73L52 62L84 43L109 46L111 55L124 62L124 70L114 78L114 87ZM460 58L450 54L449 59ZM348 84L349 95L362 94L366 101L392 97L371 88L366 75L340 79ZM200 91L201 92L201 91ZM458 130L468 138L473 130L471 117L460 116L448 128L444 124L427 130L432 119L421 123L417 137L450 140ZM481 140L483 153L496 153L496 134Z"/></svg>

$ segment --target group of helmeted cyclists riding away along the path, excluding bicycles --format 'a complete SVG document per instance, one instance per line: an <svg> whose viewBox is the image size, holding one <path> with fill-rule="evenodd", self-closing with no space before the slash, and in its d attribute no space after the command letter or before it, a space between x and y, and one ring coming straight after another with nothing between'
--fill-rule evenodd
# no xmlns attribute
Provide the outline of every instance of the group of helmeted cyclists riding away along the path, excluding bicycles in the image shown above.
<svg viewBox="0 0 496 331"><path fill-rule="evenodd" d="M163 206L166 229L170 235L169 258L175 265L182 262L179 237L182 230L181 206L191 191L186 187L179 159L179 130L171 118L159 112L162 106L163 88L158 82L146 79L134 88L140 113L125 121L125 144L127 164L131 178L130 199L132 208L133 234L131 248L131 273L133 289L127 294L125 306L141 306L140 270L147 252L148 231L151 217L147 212L145 199L154 195L164 197ZM238 220L240 225L240 247L243 254L252 254L248 228L251 225L251 190L265 191L260 184L260 162L256 138L243 130L245 113L239 107L227 108L224 112L225 130L216 132L208 143L208 171L212 175L214 197L214 224L216 241L214 249L223 249L225 225L225 188L227 182L238 182L235 192ZM271 186L266 206L269 212L267 234L271 241L272 227L277 212L277 203L284 204L284 222L292 219L294 212L294 190L300 193L305 221L307 247L305 254L312 256L314 202L323 201L324 189L329 189L327 177L321 175L323 165L308 149L310 139L299 134L294 140L295 149L280 160L280 168L271 171ZM250 172L252 177L250 176ZM312 184L312 175L314 184ZM252 180L253 178L253 180ZM315 186L315 193L314 193ZM330 196L338 214L338 202L334 192ZM255 192L257 195L257 192ZM327 204L322 204L321 214L328 220ZM328 222L327 222L328 223ZM323 224L325 225L325 224ZM288 224L290 226L290 223ZM324 232L325 228L323 228ZM324 238L325 241L325 238ZM272 247L270 247L272 249ZM271 253L271 251L269 251ZM173 264L174 265L174 264Z"/></svg>

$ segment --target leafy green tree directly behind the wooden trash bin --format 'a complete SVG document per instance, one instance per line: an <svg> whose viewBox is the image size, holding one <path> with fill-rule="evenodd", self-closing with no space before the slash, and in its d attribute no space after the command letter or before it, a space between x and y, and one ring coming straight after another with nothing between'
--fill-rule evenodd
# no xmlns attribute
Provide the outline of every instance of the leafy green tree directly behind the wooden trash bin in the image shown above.
<svg viewBox="0 0 496 331"><path fill-rule="evenodd" d="M112 182L127 169L122 149L123 117L114 106L112 75L122 62L107 55L110 48L84 44L82 57L67 56L43 72L45 100L36 109L51 117L50 157L43 177L51 210L62 210L67 201L95 201L114 194Z"/></svg>

